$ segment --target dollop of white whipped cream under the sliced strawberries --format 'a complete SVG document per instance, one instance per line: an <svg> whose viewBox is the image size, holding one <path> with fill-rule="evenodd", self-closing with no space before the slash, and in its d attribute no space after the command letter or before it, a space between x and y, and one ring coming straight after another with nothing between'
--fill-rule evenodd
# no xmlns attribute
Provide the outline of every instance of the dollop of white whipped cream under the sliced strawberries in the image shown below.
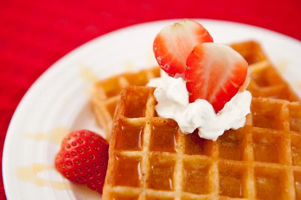
<svg viewBox="0 0 301 200"><path fill-rule="evenodd" d="M216 113L205 99L189 103L185 80L173 78L163 70L161 77L150 79L147 86L157 87L154 95L159 116L174 119L186 134L198 128L199 136L205 139L216 140L225 130L243 127L246 115L251 112L252 95L247 90L238 92Z"/></svg>

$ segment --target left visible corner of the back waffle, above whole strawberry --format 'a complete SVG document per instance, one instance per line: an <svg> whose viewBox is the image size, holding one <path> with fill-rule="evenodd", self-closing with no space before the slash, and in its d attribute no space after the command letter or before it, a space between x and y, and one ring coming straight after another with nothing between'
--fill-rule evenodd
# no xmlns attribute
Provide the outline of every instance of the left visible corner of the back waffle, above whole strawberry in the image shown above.
<svg viewBox="0 0 301 200"><path fill-rule="evenodd" d="M91 103L98 124L109 138L119 92L127 85L145 85L150 78L160 76L160 67L144 69L138 72L122 73L94 83Z"/></svg>

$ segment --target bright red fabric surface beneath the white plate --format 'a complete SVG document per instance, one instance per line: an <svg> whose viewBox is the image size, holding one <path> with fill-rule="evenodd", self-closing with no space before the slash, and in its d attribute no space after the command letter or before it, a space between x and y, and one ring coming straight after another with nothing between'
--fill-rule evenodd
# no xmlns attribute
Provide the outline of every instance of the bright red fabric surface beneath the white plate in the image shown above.
<svg viewBox="0 0 301 200"><path fill-rule="evenodd" d="M94 37L135 23L185 17L243 22L301 39L300 12L300 0L1 0L1 155L27 89L52 63ZM2 178L0 199L6 199Z"/></svg>

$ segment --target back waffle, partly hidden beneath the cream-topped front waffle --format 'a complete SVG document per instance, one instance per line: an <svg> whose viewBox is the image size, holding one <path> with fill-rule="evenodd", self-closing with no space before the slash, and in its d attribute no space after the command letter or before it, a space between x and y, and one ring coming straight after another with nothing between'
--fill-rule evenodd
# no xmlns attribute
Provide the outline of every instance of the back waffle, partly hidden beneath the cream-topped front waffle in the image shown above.
<svg viewBox="0 0 301 200"><path fill-rule="evenodd" d="M253 96L298 100L297 95L272 66L259 43L246 41L234 43L231 47L239 52L252 68L248 90ZM158 76L160 69L157 66L136 73L120 74L95 83L92 107L98 124L105 131L107 138L111 133L114 110L121 88L126 85L143 86L150 78Z"/></svg>

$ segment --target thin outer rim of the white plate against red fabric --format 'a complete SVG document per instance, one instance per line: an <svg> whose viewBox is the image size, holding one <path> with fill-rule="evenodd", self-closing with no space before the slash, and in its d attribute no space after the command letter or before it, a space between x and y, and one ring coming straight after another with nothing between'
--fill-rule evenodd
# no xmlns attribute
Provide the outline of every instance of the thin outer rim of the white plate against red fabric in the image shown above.
<svg viewBox="0 0 301 200"><path fill-rule="evenodd" d="M10 177L10 171L7 168L9 166L9 154L8 154L8 145L11 143L11 133L12 132L12 128L14 123L16 123L15 121L17 120L17 116L22 114L22 112L20 112L21 107L23 107L23 104L25 103L25 101L27 100L28 96L30 95L30 93L32 93L35 90L35 87L39 84L40 80L44 78L44 76L46 76L48 73L50 73L50 71L56 70L57 67L59 67L61 65L61 63L64 63L66 59L68 59L69 57L71 57L73 54L77 53L78 51L82 51L84 48L89 47L89 45L92 45L94 42L96 42L97 40L104 40L106 39L106 37L112 37L115 34L122 34L123 32L129 31L131 29L134 28L141 28L143 26L148 26L148 25L154 25L156 23L162 23L162 22L171 22L174 23L175 21L181 21L184 20L185 18L174 18L174 19L163 19L163 20L155 20L155 21L147 21L147 22L142 22L142 23L137 23L137 24L133 24L133 25L129 25L129 26L125 26L122 28L118 28L115 30L112 30L110 32L107 32L105 34L99 35L93 39L90 39L82 44L80 44L79 46L75 47L74 49L72 49L71 51L67 52L66 54L64 54L62 57L60 57L57 61L55 61L53 64L51 64L34 82L33 84L28 88L28 90L26 91L26 93L23 95L23 97L21 98L20 102L18 103L16 109L14 110L14 113L11 117L7 132L6 132L6 137L5 137L5 141L4 141L4 147L3 147L3 156L2 156L2 173L3 173L3 185L4 185L4 190L5 190L5 194L7 199L9 199L10 196L10 187L12 187L12 185L9 185L7 182L7 179ZM297 43L298 45L301 46L301 41L291 37L289 35L285 35L283 33L274 31L274 30L270 30L264 27L259 27L259 26L255 26L255 25L251 25L251 24L246 24L246 23L241 23L241 22L235 22L235 21L228 21L228 20L219 20L219 19L209 19L209 18L189 18L191 20L202 20L202 21L206 21L208 23L228 23L230 25L234 25L234 26L244 26L244 27L249 27L252 29L255 29L256 31L263 31L263 32L268 32L273 34L273 36L278 36L278 37L282 37L288 40L291 40L292 42ZM162 27L163 28L163 27Z"/></svg>

